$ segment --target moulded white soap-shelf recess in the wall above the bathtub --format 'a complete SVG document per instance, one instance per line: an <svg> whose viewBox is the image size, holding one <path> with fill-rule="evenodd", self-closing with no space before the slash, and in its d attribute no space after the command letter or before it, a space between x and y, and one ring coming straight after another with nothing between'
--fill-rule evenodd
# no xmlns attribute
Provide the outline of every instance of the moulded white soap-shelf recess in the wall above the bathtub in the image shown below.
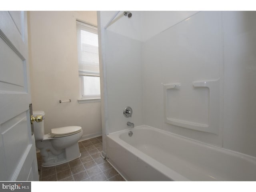
<svg viewBox="0 0 256 192"><path fill-rule="evenodd" d="M164 84L164 122L218 134L220 79Z"/></svg>

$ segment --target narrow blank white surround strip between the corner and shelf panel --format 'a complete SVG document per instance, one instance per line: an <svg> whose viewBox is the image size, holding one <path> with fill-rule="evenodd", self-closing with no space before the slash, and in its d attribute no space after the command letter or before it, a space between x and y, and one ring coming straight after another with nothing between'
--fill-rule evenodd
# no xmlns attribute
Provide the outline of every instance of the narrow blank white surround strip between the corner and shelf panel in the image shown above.
<svg viewBox="0 0 256 192"><path fill-rule="evenodd" d="M158 34L142 44L144 124L159 129L164 126L161 43L161 36Z"/></svg>

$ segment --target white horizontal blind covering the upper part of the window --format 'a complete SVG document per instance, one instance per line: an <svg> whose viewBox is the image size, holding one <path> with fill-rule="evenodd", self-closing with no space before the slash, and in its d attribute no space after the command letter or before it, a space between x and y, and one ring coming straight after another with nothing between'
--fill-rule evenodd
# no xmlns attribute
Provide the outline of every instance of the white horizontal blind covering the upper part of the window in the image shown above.
<svg viewBox="0 0 256 192"><path fill-rule="evenodd" d="M79 74L99 75L97 28L76 21Z"/></svg>

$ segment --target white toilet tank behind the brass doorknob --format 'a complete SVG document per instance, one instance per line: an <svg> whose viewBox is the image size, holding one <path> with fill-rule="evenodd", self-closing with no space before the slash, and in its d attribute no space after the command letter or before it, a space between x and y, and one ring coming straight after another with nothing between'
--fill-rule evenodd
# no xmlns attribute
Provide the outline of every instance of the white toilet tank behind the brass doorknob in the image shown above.
<svg viewBox="0 0 256 192"><path fill-rule="evenodd" d="M44 111L33 111L33 116L42 115L44 116ZM35 140L42 140L44 137L44 120L42 122L33 122L34 125L34 134L35 134Z"/></svg>

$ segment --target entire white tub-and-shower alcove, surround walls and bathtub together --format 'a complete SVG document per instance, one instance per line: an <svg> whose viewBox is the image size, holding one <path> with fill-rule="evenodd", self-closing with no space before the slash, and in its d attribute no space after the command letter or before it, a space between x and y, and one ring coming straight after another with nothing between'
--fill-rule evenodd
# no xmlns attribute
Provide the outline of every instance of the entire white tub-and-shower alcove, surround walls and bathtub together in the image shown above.
<svg viewBox="0 0 256 192"><path fill-rule="evenodd" d="M151 135L147 142L152 143L144 143L148 151L163 153L154 157L142 150L146 157L142 161L153 159L158 172L166 166L170 174L181 176L165 173L161 180L211 180L192 170L212 170L212 159L218 159L219 167L225 167L228 159L236 171L246 168L241 177L229 175L229 168L214 169L216 177L211 176L216 180L256 180L250 172L256 162L256 13L132 12L129 19L117 15L104 29L114 14L98 12L103 155L127 180L157 180L147 177L152 167L148 164L148 169L138 171L144 177L128 173L136 158L142 160L140 150L118 136L119 131L128 136L128 130L146 125L151 128L138 134L141 137L133 131L131 138L143 145L144 137ZM132 117L123 116L125 106L132 108ZM135 128L130 129L128 121ZM161 139L154 145L158 131ZM211 157L197 157L202 167L193 161L198 150ZM122 164L116 158L118 151L132 152L134 161ZM188 166L185 173L161 162L163 157L172 162L175 156ZM191 174L198 176L193 179Z"/></svg>

